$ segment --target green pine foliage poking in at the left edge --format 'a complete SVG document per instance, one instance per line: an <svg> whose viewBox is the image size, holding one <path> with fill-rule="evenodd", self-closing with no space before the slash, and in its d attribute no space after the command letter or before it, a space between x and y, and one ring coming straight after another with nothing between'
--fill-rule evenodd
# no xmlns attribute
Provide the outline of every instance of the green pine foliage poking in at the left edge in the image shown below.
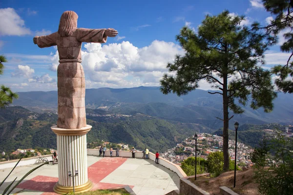
<svg viewBox="0 0 293 195"><path fill-rule="evenodd" d="M5 56L0 55L0 75L3 74L4 65L2 62L7 62ZM12 103L13 99L18 99L19 96L16 93L13 93L9 87L1 85L0 87L0 108L5 108Z"/></svg>

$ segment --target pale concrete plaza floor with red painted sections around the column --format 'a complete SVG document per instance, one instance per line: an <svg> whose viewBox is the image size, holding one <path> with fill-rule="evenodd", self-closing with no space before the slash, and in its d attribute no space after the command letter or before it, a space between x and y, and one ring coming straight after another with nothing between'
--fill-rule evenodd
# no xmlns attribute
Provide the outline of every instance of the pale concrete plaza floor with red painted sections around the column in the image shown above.
<svg viewBox="0 0 293 195"><path fill-rule="evenodd" d="M137 195L165 195L179 189L180 178L150 159L87 156L88 178L92 190L129 185ZM2 194L15 177L21 179L38 165L17 167L0 188ZM12 168L0 169L2 181ZM17 195L57 195L53 186L58 181L58 165L44 165L27 176L13 191Z"/></svg>

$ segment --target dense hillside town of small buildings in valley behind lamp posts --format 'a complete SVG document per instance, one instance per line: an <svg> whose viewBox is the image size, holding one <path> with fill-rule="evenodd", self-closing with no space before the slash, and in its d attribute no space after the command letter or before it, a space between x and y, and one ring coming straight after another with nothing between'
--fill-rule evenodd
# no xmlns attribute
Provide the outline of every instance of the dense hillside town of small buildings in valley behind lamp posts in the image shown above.
<svg viewBox="0 0 293 195"><path fill-rule="evenodd" d="M211 152L222 151L223 137L206 133L198 134L197 156L207 159ZM243 143L237 142L237 161L251 164L250 153L253 149ZM229 140L229 154L232 160L235 159L235 140ZM195 156L195 140L189 137L178 143L176 147L167 150L161 155L163 158L181 165L181 162L190 156Z"/></svg>

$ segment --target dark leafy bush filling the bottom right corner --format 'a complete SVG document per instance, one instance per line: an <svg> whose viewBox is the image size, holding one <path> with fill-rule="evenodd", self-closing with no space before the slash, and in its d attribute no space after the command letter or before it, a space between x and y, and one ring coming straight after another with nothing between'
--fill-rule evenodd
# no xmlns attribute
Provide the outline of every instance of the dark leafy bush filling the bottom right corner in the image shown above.
<svg viewBox="0 0 293 195"><path fill-rule="evenodd" d="M278 134L252 154L256 182L262 195L293 192L293 139Z"/></svg>

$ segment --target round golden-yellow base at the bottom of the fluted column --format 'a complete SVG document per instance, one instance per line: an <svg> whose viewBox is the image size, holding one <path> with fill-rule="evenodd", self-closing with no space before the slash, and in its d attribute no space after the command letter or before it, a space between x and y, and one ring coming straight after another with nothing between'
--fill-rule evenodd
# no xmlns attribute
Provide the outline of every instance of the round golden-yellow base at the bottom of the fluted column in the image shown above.
<svg viewBox="0 0 293 195"><path fill-rule="evenodd" d="M84 185L81 186L74 186L75 193L82 193L82 192L87 192L90 189L92 189L93 183L88 180ZM54 192L60 195L73 192L73 186L67 187L67 186L62 186L58 182L54 186Z"/></svg>

